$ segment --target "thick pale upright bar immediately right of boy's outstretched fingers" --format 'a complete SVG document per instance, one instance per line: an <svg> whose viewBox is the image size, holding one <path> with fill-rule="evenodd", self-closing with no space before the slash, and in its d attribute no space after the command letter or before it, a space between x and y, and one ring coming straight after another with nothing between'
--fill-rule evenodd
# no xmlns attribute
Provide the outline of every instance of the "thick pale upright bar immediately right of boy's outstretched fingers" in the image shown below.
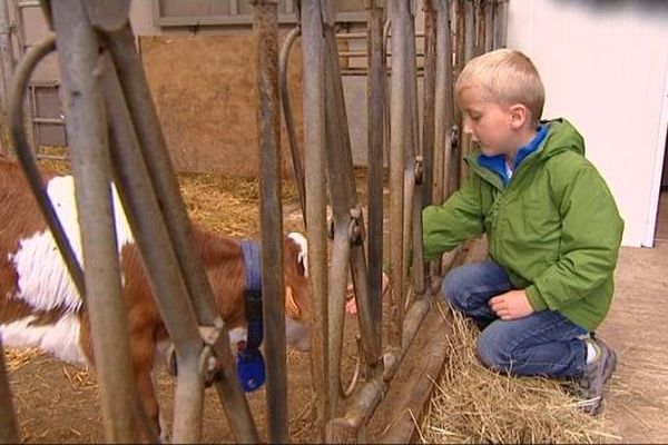
<svg viewBox="0 0 668 445"><path fill-rule="evenodd" d="M411 102L407 96L410 80L405 67L409 59L409 3L407 0L390 2L392 20L392 86L391 86L391 146L390 146L390 264L392 267L392 300L390 346L400 347L404 315L404 162L405 147L411 137Z"/></svg>

